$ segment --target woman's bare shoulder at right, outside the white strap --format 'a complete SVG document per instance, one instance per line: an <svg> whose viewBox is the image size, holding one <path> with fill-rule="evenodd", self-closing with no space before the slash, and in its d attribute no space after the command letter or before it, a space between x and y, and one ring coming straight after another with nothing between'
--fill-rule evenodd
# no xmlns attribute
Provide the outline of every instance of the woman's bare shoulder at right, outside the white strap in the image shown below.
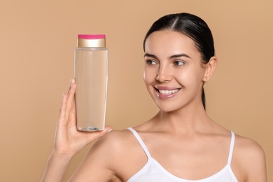
<svg viewBox="0 0 273 182"><path fill-rule="evenodd" d="M245 181L266 181L265 152L253 139L236 135L233 165Z"/></svg>

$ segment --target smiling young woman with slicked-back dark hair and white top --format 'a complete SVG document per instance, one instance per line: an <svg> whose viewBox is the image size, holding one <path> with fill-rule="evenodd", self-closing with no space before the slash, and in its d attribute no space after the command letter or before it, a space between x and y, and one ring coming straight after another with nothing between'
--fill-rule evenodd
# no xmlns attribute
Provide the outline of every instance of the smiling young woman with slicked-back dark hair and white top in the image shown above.
<svg viewBox="0 0 273 182"><path fill-rule="evenodd" d="M203 85L217 57L202 19L180 13L157 20L144 39L144 63L158 114L128 130L78 132L72 80L42 181L62 181L73 155L100 137L70 181L267 181L262 148L207 116Z"/></svg>

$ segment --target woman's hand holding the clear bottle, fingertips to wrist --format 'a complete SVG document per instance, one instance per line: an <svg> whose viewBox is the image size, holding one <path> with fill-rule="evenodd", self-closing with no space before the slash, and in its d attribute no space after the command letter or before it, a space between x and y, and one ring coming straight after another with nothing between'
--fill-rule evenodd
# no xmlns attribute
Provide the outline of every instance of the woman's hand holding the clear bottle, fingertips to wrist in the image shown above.
<svg viewBox="0 0 273 182"><path fill-rule="evenodd" d="M53 152L62 155L75 155L84 146L111 130L111 127L106 127L102 132L80 132L77 130L75 92L76 84L74 80L71 80L69 92L63 94L62 97L53 149Z"/></svg>

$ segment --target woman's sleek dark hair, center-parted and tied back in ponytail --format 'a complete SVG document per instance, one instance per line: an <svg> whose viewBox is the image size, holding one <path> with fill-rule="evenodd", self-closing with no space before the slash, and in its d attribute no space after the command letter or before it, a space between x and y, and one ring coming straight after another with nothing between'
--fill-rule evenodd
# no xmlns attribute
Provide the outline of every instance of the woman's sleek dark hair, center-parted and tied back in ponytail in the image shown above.
<svg viewBox="0 0 273 182"><path fill-rule="evenodd" d="M165 15L155 21L152 27L148 30L144 38L144 51L145 43L148 36L154 31L169 29L184 34L195 41L197 50L200 51L202 62L204 64L209 62L209 59L214 56L214 38L211 30L204 20L189 13L177 13ZM204 87L202 88L202 104L206 109L206 99L204 94Z"/></svg>

